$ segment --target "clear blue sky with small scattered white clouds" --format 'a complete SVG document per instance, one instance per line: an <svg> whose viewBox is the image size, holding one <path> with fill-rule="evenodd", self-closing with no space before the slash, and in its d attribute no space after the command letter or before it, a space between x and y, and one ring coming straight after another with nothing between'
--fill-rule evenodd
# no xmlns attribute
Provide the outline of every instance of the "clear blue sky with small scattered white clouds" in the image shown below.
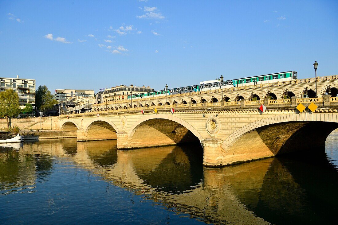
<svg viewBox="0 0 338 225"><path fill-rule="evenodd" d="M0 76L54 89L156 90L338 74L338 1L3 1Z"/></svg>

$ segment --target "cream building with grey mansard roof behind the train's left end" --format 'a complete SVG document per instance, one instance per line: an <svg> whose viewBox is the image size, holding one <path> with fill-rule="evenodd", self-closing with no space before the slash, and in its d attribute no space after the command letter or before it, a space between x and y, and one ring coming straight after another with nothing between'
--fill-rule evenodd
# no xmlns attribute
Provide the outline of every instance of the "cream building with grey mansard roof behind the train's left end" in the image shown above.
<svg viewBox="0 0 338 225"><path fill-rule="evenodd" d="M127 99L127 96L130 95L130 92L132 94L142 94L142 93L147 93L147 92L153 92L154 89L152 89L150 86L126 86L126 85L119 85L112 87L111 89L106 89L103 94L101 95L101 102L100 103L105 103L106 101L108 102L115 102L119 100L125 100Z"/></svg>

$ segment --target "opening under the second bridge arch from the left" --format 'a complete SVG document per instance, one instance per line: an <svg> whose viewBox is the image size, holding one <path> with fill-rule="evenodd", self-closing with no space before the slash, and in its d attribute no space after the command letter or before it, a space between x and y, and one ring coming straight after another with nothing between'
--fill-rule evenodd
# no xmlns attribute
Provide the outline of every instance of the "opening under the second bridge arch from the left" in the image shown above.
<svg viewBox="0 0 338 225"><path fill-rule="evenodd" d="M84 140L112 140L117 139L114 127L105 121L92 122L84 133Z"/></svg>

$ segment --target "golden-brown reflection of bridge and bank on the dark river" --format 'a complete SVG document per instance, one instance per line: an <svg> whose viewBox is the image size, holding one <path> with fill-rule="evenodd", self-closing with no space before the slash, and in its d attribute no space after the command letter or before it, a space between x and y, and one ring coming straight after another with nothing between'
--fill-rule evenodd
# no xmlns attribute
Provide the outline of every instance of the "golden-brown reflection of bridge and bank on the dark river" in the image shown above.
<svg viewBox="0 0 338 225"><path fill-rule="evenodd" d="M338 172L324 149L316 152L307 160L293 155L205 168L198 143L120 151L116 140L28 142L0 146L0 191L6 195L24 186L33 190L50 179L53 159L60 158L164 208L209 223L330 223L337 209Z"/></svg>

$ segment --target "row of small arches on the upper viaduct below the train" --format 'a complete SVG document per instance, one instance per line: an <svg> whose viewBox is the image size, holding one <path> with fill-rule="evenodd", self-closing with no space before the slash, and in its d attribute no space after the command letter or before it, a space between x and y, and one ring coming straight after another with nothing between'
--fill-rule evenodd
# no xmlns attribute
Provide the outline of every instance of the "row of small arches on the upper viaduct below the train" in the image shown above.
<svg viewBox="0 0 338 225"><path fill-rule="evenodd" d="M337 87L332 87L331 85L327 86L327 89L322 89L320 90L321 94L318 94L318 97L323 97L324 95L331 95L332 97L336 97L338 95L338 88ZM278 96L278 97L277 97ZM314 90L309 89L307 86L304 87L303 91L301 93L298 93L297 95L292 92L292 90L288 90L285 89L284 91L282 91L281 93L273 93L270 92L269 90L263 94L263 96L259 96L259 94L255 93L255 92L251 92L250 94L246 95L246 96L242 96L240 94L235 95L235 97L233 99L231 99L229 96L225 94L223 94L223 102L228 102L228 101L240 101L240 100L249 100L249 101L257 101L257 100L263 100L264 98L268 98L271 100L277 100L277 99L290 99L291 97L296 96L297 98L315 98L316 93ZM218 97L218 96L217 96ZM157 101L157 102L144 102L144 103L134 103L132 104L133 106L131 106L130 104L123 104L123 105L118 105L118 106L111 106L111 107L104 107L104 106L100 106L100 107L93 107L93 111L109 111L112 109L118 110L118 109L127 109L127 108L142 108L142 107L149 107L149 106L161 106L161 105L174 105L174 104L188 104L188 103L204 103L204 102L219 102L221 101L221 97L217 98L216 96L212 96L211 98L209 97L209 100L207 100L208 98L204 98L201 97L200 99L194 99L194 98L190 98L189 100L187 99L182 99L182 100L171 100L171 102L166 102L166 100L164 100L164 102L162 103L161 101ZM146 99L145 99L146 100ZM118 102L116 103L118 104Z"/></svg>

